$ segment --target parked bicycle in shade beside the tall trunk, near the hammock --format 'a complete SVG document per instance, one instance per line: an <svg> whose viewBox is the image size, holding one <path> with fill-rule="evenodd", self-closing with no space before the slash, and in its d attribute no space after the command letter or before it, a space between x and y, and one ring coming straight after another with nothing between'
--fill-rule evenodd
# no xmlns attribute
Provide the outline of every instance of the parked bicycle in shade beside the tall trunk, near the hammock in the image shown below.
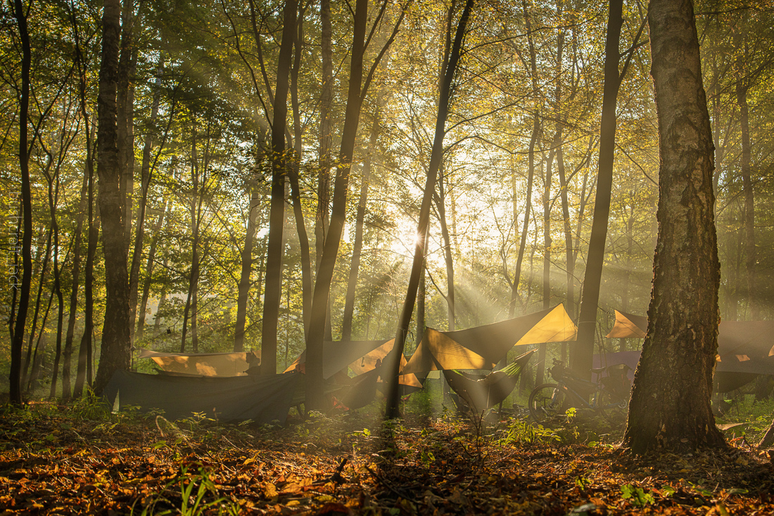
<svg viewBox="0 0 774 516"><path fill-rule="evenodd" d="M629 369L625 364L592 369L592 373L608 371L609 375L594 383L576 377L560 360L553 359L550 373L557 383L539 385L529 393L529 415L543 424L563 417L568 408L574 407L594 411L611 422L620 421L628 409L627 389L631 386L626 372ZM622 395L624 390L626 397Z"/></svg>

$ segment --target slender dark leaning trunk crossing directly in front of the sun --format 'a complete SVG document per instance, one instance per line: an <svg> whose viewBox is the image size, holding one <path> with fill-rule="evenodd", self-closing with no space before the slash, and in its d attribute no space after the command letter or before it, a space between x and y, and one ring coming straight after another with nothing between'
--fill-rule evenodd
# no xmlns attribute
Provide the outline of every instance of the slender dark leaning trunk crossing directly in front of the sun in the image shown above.
<svg viewBox="0 0 774 516"><path fill-rule="evenodd" d="M409 322L411 314L414 311L414 302L416 301L416 290L420 283L420 276L423 270L426 249L427 228L430 225L430 204L433 200L433 191L437 181L438 170L441 161L444 158L444 136L446 134L446 119L449 114L450 92L454 74L457 71L457 63L460 60L462 50L462 40L467 29L467 20L470 18L473 9L474 0L466 0L460 21L457 24L457 33L454 36L454 43L451 46L446 69L444 70L444 80L441 82L438 95L438 116L436 119L435 136L433 137L433 150L430 153L430 164L427 168L427 180L425 190L420 206L420 219L417 225L416 248L414 249L414 260L411 267L411 276L409 277L409 286L406 291L406 300L403 301L403 308L399 319L398 329L395 336L395 346L392 348L391 359L386 360L386 370L389 371L389 390L387 394L387 406L385 408L386 418L397 418L399 416L399 396L398 382L400 373L400 357L406 344L406 333L409 331ZM452 19L452 12L449 12L449 19ZM449 25L451 29L451 25Z"/></svg>

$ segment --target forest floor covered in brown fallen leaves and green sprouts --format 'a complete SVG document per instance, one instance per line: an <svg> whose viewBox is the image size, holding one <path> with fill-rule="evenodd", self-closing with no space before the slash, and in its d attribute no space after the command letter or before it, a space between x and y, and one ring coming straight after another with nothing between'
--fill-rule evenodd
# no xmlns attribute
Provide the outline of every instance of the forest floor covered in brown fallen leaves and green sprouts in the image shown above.
<svg viewBox="0 0 774 516"><path fill-rule="evenodd" d="M0 514L774 514L774 466L745 439L637 458L594 421L257 428L85 403L0 411Z"/></svg>

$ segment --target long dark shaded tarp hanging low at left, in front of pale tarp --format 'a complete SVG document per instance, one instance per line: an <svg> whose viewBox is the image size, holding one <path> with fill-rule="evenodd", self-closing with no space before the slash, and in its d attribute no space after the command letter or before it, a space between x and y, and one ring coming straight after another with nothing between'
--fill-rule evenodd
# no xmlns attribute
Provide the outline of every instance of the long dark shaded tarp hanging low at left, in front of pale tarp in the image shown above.
<svg viewBox="0 0 774 516"><path fill-rule="evenodd" d="M284 423L296 391L298 374L245 377L174 377L118 370L104 397L119 408L160 410L170 420L201 413L218 421Z"/></svg>

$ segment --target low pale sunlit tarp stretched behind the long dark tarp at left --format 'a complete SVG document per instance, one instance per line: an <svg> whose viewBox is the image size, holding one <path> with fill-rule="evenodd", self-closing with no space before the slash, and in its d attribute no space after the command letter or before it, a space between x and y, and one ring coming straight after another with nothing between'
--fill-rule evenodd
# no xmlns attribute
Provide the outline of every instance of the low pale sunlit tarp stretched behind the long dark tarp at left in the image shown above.
<svg viewBox="0 0 774 516"><path fill-rule="evenodd" d="M261 361L260 352L158 353L141 349L139 358L152 359L164 373L202 377L238 377Z"/></svg>

